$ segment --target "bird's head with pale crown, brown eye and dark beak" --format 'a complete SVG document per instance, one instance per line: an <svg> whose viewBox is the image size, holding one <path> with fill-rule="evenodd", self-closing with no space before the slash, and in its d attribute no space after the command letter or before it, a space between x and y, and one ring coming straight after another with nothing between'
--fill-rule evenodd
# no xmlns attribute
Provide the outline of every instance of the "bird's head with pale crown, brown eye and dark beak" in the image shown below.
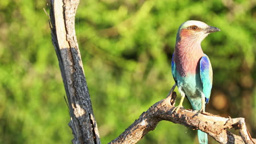
<svg viewBox="0 0 256 144"><path fill-rule="evenodd" d="M201 21L186 21L179 26L176 41L184 39L201 43L208 34L218 31L220 31L219 28L208 26Z"/></svg>

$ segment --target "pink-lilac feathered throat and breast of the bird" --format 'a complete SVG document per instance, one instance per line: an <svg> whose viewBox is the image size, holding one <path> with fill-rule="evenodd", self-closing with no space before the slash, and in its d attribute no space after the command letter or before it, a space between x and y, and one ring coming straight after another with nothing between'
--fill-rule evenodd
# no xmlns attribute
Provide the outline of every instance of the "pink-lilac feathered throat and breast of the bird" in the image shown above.
<svg viewBox="0 0 256 144"><path fill-rule="evenodd" d="M184 30L184 29L183 29ZM181 31L181 38L176 41L174 61L179 75L187 76L199 73L199 60L204 53L201 40L187 31Z"/></svg>

